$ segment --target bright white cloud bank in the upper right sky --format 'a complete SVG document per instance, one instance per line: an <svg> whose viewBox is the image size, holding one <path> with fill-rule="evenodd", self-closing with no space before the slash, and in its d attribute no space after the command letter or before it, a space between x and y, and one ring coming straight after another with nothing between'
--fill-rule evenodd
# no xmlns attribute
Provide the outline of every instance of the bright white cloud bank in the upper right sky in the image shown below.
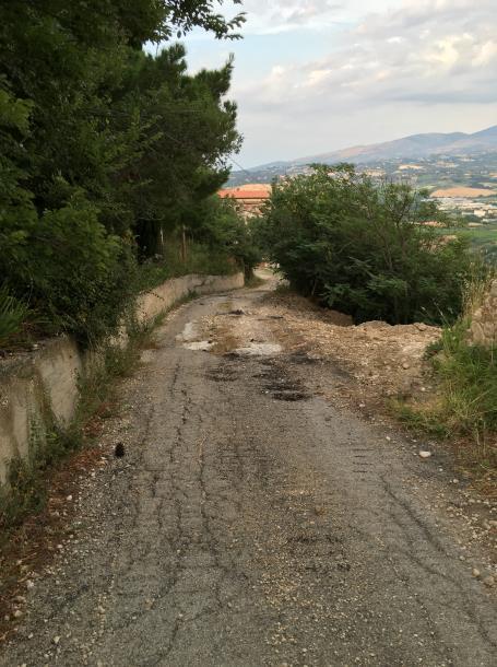
<svg viewBox="0 0 497 667"><path fill-rule="evenodd" d="M434 97L451 104L472 96L497 102L494 1L481 0L476 12L468 11L473 4L469 0L404 2L403 11L367 17L319 61L285 67L277 86L270 75L242 84L238 94L242 100L250 95L260 104L308 112L321 108L323 98L333 107L389 100L423 103Z"/></svg>

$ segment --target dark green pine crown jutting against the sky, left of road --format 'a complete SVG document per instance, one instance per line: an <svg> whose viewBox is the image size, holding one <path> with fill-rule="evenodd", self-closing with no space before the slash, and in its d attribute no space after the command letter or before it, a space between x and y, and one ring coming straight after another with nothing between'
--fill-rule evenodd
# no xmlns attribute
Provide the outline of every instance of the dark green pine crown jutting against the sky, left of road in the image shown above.
<svg viewBox="0 0 497 667"><path fill-rule="evenodd" d="M123 175L138 180L125 191L142 255L162 251L162 239L189 225L197 209L226 180L226 157L238 150L236 106L224 102L233 66L186 74L185 49L157 58L140 55L126 82L126 107L139 109L141 151ZM121 187L121 184L118 184ZM198 214L197 214L198 217Z"/></svg>

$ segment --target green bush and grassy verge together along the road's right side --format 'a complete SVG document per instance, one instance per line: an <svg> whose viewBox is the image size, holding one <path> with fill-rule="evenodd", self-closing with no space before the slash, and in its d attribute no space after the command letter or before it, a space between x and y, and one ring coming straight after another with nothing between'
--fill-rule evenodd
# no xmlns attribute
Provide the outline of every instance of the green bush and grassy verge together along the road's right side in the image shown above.
<svg viewBox="0 0 497 667"><path fill-rule="evenodd" d="M497 350L468 342L471 315L493 278L468 238L406 185L378 185L353 166L316 165L273 187L259 221L267 256L292 289L356 324L442 327L427 350L433 395L398 400L395 414L455 445L461 465L489 487L497 470ZM458 227L459 229L459 227Z"/></svg>

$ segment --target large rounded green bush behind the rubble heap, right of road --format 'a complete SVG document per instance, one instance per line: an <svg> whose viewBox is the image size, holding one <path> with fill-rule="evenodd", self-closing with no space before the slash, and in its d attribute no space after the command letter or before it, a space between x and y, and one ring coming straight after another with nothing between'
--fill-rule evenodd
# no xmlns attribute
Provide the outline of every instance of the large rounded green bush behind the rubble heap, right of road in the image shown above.
<svg viewBox="0 0 497 667"><path fill-rule="evenodd" d="M259 224L292 285L359 321L453 320L471 259L421 223L436 204L405 185L376 186L350 165L316 165L275 185Z"/></svg>

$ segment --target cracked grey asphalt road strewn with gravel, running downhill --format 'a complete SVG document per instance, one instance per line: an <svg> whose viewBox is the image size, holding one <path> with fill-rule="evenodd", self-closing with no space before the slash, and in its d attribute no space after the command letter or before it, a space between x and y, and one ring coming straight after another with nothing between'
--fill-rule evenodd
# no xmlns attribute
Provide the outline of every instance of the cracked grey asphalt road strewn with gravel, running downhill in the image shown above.
<svg viewBox="0 0 497 667"><path fill-rule="evenodd" d="M496 664L495 592L418 483L437 464L327 402L340 372L285 352L263 299L158 331L0 665Z"/></svg>

